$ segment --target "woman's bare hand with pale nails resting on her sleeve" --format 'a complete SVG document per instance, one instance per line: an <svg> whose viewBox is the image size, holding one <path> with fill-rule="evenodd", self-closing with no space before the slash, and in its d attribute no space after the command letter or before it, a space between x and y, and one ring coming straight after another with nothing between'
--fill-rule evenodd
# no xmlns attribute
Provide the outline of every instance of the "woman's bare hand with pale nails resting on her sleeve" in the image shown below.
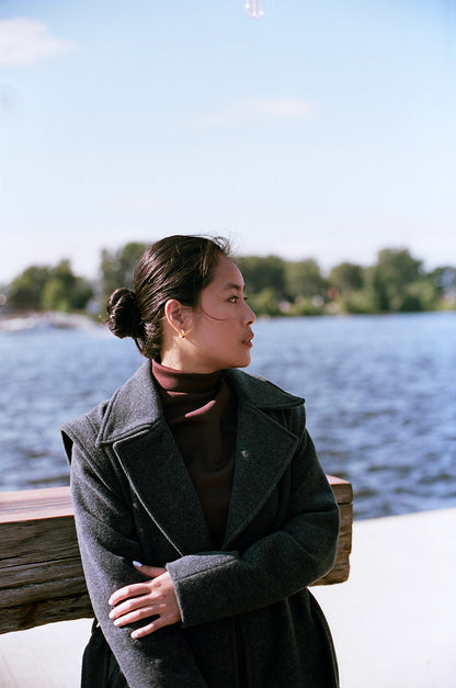
<svg viewBox="0 0 456 688"><path fill-rule="evenodd" d="M156 617L147 625L133 631L132 638L144 638L181 621L181 611L175 596L174 583L166 568L144 566L134 562L135 568L150 580L127 585L111 595L109 604L114 607L110 618L115 625L125 625L149 617Z"/></svg>

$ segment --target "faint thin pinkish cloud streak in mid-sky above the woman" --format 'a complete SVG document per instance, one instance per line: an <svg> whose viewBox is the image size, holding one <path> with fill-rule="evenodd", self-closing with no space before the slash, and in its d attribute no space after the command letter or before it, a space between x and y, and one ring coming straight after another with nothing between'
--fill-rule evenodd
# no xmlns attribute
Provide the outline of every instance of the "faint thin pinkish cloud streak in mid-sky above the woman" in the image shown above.
<svg viewBox="0 0 456 688"><path fill-rule="evenodd" d="M312 103L298 98L271 98L232 103L223 110L208 112L195 122L200 126L220 126L254 120L304 120L316 114Z"/></svg>

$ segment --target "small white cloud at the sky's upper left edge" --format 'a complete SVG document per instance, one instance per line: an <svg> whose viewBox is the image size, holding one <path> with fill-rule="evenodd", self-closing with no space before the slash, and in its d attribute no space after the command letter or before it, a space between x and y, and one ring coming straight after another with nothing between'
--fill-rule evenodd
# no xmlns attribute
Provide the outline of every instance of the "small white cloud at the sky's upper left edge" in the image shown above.
<svg viewBox="0 0 456 688"><path fill-rule="evenodd" d="M30 65L66 53L72 41L54 38L43 22L18 18L0 20L0 65Z"/></svg>

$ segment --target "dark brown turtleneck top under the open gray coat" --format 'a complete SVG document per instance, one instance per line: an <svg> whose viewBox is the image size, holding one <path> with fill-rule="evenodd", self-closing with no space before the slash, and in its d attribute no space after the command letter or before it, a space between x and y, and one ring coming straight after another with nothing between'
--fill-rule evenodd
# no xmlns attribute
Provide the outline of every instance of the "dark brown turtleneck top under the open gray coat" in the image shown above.
<svg viewBox="0 0 456 688"><path fill-rule="evenodd" d="M152 361L164 418L216 546L224 541L235 471L237 401L219 371L182 373Z"/></svg>

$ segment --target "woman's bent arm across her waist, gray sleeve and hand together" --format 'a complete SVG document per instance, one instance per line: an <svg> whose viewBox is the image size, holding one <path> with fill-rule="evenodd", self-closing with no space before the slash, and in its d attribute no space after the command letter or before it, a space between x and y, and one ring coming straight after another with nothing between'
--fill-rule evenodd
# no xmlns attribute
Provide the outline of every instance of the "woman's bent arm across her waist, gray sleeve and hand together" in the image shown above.
<svg viewBox="0 0 456 688"><path fill-rule="evenodd" d="M296 489L289 520L282 530L265 535L243 553L190 554L167 564L167 568L133 562L146 579L111 595L110 618L117 627L146 620L132 633L139 639L180 621L184 627L194 625L259 609L323 575L332 565L338 531L338 507L317 462ZM202 590L210 596L210 611L202 604Z"/></svg>

